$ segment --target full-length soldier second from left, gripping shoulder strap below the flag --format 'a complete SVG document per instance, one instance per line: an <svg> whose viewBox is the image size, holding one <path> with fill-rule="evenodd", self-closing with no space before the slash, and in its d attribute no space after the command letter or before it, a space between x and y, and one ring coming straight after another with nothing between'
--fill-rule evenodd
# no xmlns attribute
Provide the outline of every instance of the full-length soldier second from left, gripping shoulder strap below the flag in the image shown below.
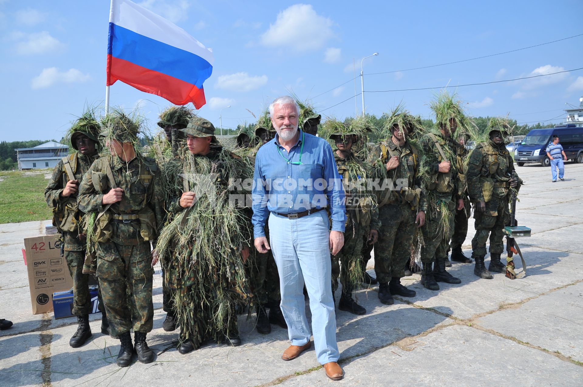
<svg viewBox="0 0 583 387"><path fill-rule="evenodd" d="M150 242L155 245L157 226L164 223L164 195L157 184L156 162L135 149L138 123L123 112L113 112L102 125L111 156L101 157L89 168L79 187L78 203L83 212L99 212L94 230L97 279L111 335L121 341L117 364L127 367L134 350L141 363L154 360L146 343L154 315Z"/></svg>

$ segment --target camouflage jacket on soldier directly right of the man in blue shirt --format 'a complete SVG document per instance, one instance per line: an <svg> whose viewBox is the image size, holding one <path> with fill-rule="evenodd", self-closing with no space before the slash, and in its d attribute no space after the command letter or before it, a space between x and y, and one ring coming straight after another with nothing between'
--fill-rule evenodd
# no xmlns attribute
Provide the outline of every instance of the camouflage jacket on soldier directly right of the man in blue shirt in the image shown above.
<svg viewBox="0 0 583 387"><path fill-rule="evenodd" d="M338 173L342 178L346 198L346 226L357 222L360 226L380 230L377 198L370 187L373 167L350 153L346 159L334 152Z"/></svg>

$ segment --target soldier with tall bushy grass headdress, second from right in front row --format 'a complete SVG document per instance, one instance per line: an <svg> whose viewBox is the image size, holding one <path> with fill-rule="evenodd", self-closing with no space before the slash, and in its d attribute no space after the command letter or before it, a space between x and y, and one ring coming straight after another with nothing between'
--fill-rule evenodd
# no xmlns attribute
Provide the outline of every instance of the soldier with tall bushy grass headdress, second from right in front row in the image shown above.
<svg viewBox="0 0 583 387"><path fill-rule="evenodd" d="M430 104L436 115L436 128L420 139L423 149L423 184L427 189L426 223L422 227L424 246L422 284L439 290L437 282L459 284L461 280L445 270L449 238L454 229L456 209L463 209L465 175L461 171L463 147L452 138L462 135L469 126L468 118L456 101L456 95L442 92ZM434 263L433 269L431 268Z"/></svg>

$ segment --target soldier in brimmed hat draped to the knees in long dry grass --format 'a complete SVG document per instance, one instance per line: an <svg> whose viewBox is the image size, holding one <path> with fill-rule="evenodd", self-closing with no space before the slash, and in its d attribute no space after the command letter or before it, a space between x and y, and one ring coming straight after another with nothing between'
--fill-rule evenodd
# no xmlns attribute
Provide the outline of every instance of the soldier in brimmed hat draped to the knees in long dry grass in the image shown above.
<svg viewBox="0 0 583 387"><path fill-rule="evenodd" d="M230 182L249 177L251 168L219 145L206 119L192 118L181 131L187 136L181 157L163 168L164 191L174 197L166 203L168 220L156 254L173 290L178 350L185 354L206 339L241 343L236 306L251 295L243 256L250 231L245 212L236 206L244 199L232 197L244 192Z"/></svg>

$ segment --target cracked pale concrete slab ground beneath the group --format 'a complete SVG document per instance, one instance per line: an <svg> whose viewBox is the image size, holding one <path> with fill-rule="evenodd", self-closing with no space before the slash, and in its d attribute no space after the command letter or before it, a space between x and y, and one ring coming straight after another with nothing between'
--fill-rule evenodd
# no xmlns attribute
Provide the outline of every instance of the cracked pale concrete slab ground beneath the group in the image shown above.
<svg viewBox="0 0 583 387"><path fill-rule="evenodd" d="M118 368L119 342L100 333L99 314L91 317L92 341L72 349L73 318L30 312L20 248L24 237L43 231L43 222L2 224L0 317L15 325L0 332L0 385L583 385L583 165L567 163L566 181L556 183L549 168L527 165L517 171L526 183L517 204L519 224L532 228L531 238L518 240L528 276L483 280L473 275L473 265L454 263L449 271L461 285L440 283L436 292L424 289L419 276L405 277L417 296L397 297L395 305L380 304L377 287L360 290L367 314L336 316L345 370L339 382L325 377L313 347L282 361L286 330L272 326L271 334L259 335L245 316L242 346L207 344L182 356L172 347L177 332L161 329L159 275L148 336L158 353L154 363ZM470 225L466 255L473 220Z"/></svg>

